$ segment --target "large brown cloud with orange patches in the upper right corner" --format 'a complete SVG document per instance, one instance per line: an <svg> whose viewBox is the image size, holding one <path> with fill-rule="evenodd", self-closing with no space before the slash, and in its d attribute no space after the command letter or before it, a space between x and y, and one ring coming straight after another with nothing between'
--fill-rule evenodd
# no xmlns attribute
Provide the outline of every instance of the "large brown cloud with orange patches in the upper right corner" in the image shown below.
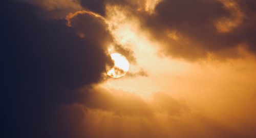
<svg viewBox="0 0 256 138"><path fill-rule="evenodd" d="M255 53L252 9L252 1L162 1L156 14L147 16L146 27L165 44L163 52L173 57L195 60L211 53L239 57L237 47L244 42ZM219 54L230 49L232 53Z"/></svg>

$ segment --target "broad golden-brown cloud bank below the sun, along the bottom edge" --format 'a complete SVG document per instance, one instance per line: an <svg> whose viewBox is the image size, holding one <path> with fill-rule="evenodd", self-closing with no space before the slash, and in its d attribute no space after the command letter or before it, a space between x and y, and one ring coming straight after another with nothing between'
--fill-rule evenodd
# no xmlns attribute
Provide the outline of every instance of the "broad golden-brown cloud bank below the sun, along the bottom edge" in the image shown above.
<svg viewBox="0 0 256 138"><path fill-rule="evenodd" d="M241 137L165 93L143 100L120 90L84 90L83 103L55 110L53 137Z"/></svg>

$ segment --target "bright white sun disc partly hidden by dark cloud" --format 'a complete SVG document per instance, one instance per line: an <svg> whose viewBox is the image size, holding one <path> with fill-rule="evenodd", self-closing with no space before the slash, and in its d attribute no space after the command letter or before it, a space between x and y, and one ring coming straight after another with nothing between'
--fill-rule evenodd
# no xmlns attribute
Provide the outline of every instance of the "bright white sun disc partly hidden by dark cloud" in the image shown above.
<svg viewBox="0 0 256 138"><path fill-rule="evenodd" d="M114 61L114 66L106 72L106 75L112 78L120 78L129 71L128 60L119 53L111 54L111 58Z"/></svg>

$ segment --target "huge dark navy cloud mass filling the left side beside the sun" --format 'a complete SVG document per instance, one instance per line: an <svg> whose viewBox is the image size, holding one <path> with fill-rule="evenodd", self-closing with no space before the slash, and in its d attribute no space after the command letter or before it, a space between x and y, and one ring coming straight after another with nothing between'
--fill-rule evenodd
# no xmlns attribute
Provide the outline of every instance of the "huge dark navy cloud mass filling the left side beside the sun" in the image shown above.
<svg viewBox="0 0 256 138"><path fill-rule="evenodd" d="M65 19L41 20L40 7L12 1L0 7L4 137L48 137L54 106L79 101L76 89L102 81L111 58L93 32L81 38ZM87 26L105 31L95 25Z"/></svg>

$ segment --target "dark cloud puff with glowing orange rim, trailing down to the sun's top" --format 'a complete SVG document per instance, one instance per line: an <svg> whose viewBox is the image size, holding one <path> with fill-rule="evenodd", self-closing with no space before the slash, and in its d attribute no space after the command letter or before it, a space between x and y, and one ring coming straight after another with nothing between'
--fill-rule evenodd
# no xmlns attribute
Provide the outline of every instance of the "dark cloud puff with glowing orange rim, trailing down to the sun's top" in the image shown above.
<svg viewBox="0 0 256 138"><path fill-rule="evenodd" d="M74 28L77 34L84 39L91 39L104 45L104 49L114 45L115 52L124 55L130 63L136 63L136 58L131 49L116 44L109 30L108 21L97 13L91 11L77 11L67 15L67 25Z"/></svg>

